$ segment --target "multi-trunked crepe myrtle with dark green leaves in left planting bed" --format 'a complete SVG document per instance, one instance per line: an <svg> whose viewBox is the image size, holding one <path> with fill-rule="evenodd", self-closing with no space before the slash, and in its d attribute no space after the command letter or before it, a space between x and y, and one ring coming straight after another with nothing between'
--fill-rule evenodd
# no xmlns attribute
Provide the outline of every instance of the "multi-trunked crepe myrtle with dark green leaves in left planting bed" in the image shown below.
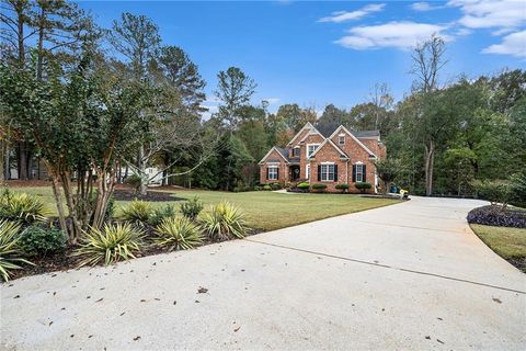
<svg viewBox="0 0 526 351"><path fill-rule="evenodd" d="M52 179L60 227L75 244L83 230L103 224L117 160L138 134L144 93L96 68L90 54L70 72L55 66L46 81L35 77L34 65L0 66L0 107L35 140Z"/></svg>

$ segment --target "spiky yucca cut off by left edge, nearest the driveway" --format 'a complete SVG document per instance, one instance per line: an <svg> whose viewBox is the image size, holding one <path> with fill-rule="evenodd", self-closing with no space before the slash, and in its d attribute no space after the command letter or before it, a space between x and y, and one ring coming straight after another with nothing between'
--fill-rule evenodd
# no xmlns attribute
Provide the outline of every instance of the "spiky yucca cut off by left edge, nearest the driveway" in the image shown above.
<svg viewBox="0 0 526 351"><path fill-rule="evenodd" d="M19 241L20 224L0 220L0 275L7 282L12 270L22 269L18 263L33 264L22 258Z"/></svg>

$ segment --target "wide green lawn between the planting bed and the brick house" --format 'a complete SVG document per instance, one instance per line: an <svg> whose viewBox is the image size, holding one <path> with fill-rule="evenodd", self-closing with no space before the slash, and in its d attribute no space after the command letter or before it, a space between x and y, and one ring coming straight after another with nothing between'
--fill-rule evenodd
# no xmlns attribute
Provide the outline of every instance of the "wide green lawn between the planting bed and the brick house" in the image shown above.
<svg viewBox="0 0 526 351"><path fill-rule="evenodd" d="M32 193L41 197L52 214L56 214L50 188L14 188L14 191ZM163 190L164 191L164 190ZM226 200L239 206L254 229L273 230L336 215L386 206L398 203L390 199L370 199L341 194L281 194L273 192L229 193L218 191L174 191L173 196L190 199L199 196L209 204ZM178 202L153 202L155 206ZM126 202L117 202L118 210Z"/></svg>

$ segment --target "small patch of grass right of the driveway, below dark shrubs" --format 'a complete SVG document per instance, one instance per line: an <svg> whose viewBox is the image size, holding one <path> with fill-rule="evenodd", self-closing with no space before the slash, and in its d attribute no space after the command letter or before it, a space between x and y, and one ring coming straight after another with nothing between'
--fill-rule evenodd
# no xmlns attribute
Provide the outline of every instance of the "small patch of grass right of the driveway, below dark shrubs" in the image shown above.
<svg viewBox="0 0 526 351"><path fill-rule="evenodd" d="M526 228L470 226L490 249L526 273Z"/></svg>

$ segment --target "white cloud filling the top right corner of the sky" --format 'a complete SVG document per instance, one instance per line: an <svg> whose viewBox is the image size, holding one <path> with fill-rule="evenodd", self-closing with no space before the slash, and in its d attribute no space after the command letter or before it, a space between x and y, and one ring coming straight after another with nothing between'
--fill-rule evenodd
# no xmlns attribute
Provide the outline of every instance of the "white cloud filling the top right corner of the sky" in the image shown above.
<svg viewBox="0 0 526 351"><path fill-rule="evenodd" d="M526 23L523 0L450 0L447 4L460 8L464 15L458 22L468 29L510 29Z"/></svg>

